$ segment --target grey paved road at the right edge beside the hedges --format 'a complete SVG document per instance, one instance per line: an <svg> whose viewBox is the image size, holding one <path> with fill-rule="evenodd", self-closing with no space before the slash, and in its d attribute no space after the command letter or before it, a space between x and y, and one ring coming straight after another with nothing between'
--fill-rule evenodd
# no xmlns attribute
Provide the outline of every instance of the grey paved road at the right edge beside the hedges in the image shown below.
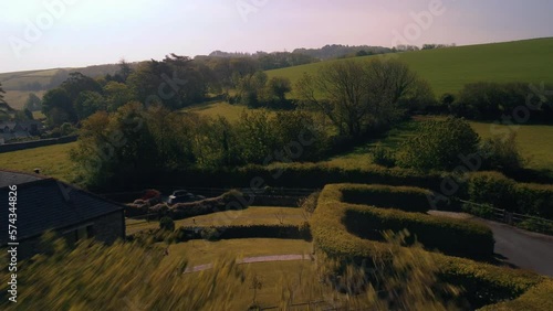
<svg viewBox="0 0 553 311"><path fill-rule="evenodd" d="M553 237L484 221L495 238L494 253L502 261L553 277Z"/></svg>

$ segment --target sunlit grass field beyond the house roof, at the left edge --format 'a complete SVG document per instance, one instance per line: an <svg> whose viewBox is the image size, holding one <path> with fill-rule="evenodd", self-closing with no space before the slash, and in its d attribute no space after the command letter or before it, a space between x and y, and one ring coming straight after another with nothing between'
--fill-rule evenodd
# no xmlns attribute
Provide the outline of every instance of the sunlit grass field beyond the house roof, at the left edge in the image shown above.
<svg viewBox="0 0 553 311"><path fill-rule="evenodd" d="M76 142L70 142L0 153L0 168L22 172L40 168L41 174L73 182L76 175L69 152L75 146Z"/></svg>

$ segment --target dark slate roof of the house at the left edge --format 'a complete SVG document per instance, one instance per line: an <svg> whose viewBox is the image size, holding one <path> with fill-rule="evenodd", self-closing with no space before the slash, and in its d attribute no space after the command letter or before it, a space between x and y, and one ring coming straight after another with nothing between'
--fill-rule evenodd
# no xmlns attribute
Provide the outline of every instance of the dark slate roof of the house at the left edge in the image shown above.
<svg viewBox="0 0 553 311"><path fill-rule="evenodd" d="M8 240L9 187L0 189L0 245ZM124 206L54 179L22 183L17 190L18 239L38 236L46 229L85 224Z"/></svg>

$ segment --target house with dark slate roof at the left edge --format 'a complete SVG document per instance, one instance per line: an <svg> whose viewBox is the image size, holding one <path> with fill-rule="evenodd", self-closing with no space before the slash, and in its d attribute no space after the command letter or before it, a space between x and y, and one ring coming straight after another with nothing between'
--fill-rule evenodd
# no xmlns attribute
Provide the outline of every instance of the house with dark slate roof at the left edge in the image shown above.
<svg viewBox="0 0 553 311"><path fill-rule="evenodd" d="M10 186L17 190L11 193ZM40 236L52 229L70 244L95 238L106 244L125 238L125 206L52 178L0 170L0 247L9 236L9 197L15 196L18 254L23 257L39 251ZM11 228L13 229L13 227Z"/></svg>

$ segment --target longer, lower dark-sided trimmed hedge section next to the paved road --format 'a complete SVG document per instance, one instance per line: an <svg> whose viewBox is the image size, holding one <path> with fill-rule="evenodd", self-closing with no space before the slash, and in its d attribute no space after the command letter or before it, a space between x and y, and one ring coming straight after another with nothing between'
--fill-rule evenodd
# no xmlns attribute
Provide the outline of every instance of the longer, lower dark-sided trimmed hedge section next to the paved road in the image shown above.
<svg viewBox="0 0 553 311"><path fill-rule="evenodd" d="M460 257L490 258L495 243L486 225L397 210L352 206L346 208L344 222L363 238L380 238L383 230L406 228L426 249Z"/></svg>

